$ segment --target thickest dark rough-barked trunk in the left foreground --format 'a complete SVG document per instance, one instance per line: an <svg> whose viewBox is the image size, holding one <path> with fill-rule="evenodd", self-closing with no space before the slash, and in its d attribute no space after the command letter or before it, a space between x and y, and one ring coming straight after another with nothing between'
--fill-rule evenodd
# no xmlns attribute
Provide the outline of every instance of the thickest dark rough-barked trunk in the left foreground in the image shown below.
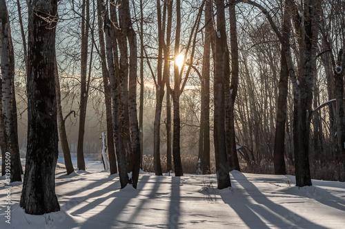
<svg viewBox="0 0 345 229"><path fill-rule="evenodd" d="M60 209L55 195L57 1L32 0L29 4L28 147L20 206L28 214L42 215Z"/></svg>

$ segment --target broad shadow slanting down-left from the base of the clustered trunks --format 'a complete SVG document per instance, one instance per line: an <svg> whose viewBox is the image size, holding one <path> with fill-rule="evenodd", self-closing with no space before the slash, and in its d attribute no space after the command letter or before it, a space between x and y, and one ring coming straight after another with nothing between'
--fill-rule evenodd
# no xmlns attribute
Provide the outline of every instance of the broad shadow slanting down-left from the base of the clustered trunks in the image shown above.
<svg viewBox="0 0 345 229"><path fill-rule="evenodd" d="M148 175L141 177L138 182L137 189L133 188L130 189L130 191L119 190L118 192L112 193L107 197L97 199L97 202L103 203L106 202L107 199L110 199L110 197L113 198L112 201L106 203L106 208L104 208L97 215L93 215L87 221L85 221L81 225L80 229L95 229L99 228L99 226L101 226L102 229L115 228L115 226L117 226L117 216L124 210L130 199L137 197L141 188L147 183L149 177L150 176Z"/></svg>

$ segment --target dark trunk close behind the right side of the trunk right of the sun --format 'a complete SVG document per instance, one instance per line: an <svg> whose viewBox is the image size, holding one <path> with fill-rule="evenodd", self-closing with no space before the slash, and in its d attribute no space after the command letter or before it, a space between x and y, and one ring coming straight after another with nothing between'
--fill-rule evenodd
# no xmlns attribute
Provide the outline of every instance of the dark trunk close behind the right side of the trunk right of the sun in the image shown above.
<svg viewBox="0 0 345 229"><path fill-rule="evenodd" d="M237 157L236 149L236 136L235 136L235 99L237 96L237 88L239 81L239 61L238 61L238 45L237 45L237 28L236 28L236 10L235 1L229 8L230 14L230 49L231 49L231 85L228 87L228 78L230 77L230 66L229 61L226 61L226 151L228 154L229 168L230 171L237 170L241 171L239 168L239 161ZM226 49L228 52L228 49ZM228 53L226 54L228 59ZM227 91L228 89L228 91Z"/></svg>

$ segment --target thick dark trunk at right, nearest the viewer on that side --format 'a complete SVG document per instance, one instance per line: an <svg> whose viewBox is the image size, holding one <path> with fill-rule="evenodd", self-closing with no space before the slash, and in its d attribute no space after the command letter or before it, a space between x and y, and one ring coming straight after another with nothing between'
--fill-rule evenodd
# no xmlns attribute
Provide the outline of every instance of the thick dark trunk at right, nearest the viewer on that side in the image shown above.
<svg viewBox="0 0 345 229"><path fill-rule="evenodd" d="M313 56L319 26L320 1L306 3L303 20L295 6L295 30L299 43L299 85L294 96L293 142L295 153L296 186L311 186L309 166L310 113L313 101Z"/></svg>

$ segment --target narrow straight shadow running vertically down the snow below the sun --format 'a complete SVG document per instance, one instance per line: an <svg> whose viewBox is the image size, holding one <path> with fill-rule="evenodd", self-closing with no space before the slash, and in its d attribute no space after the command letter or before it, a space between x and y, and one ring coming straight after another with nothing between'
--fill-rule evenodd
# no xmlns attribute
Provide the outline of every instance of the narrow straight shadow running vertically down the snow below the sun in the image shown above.
<svg viewBox="0 0 345 229"><path fill-rule="evenodd" d="M181 215L180 208L180 177L171 177L171 200L169 206L169 219L168 219L168 228L179 228L179 217Z"/></svg>

